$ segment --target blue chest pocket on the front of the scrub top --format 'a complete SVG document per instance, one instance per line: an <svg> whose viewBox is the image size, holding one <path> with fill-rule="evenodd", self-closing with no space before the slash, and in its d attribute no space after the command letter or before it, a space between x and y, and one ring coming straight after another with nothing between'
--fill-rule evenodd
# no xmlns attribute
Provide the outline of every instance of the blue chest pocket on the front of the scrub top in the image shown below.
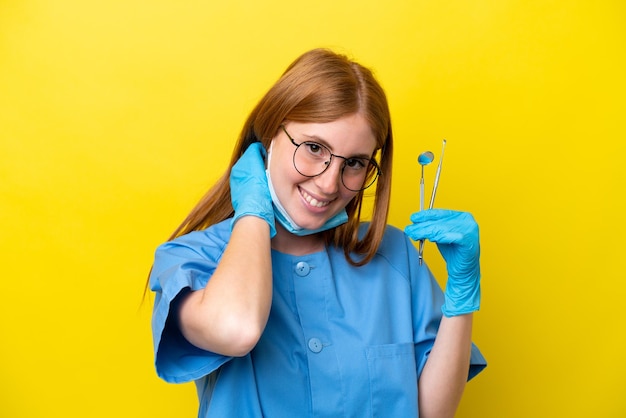
<svg viewBox="0 0 626 418"><path fill-rule="evenodd" d="M417 417L417 369L413 343L366 351L373 417Z"/></svg>

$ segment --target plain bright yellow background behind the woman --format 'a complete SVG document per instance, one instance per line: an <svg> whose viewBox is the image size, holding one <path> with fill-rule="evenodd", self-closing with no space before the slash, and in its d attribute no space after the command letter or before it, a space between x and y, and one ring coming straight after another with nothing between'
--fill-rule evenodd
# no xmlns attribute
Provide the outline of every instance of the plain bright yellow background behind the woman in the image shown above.
<svg viewBox="0 0 626 418"><path fill-rule="evenodd" d="M317 46L388 92L391 223L446 138L437 206L481 225L458 416L626 416L625 28L621 0L0 1L0 416L195 416L153 370L153 251Z"/></svg>

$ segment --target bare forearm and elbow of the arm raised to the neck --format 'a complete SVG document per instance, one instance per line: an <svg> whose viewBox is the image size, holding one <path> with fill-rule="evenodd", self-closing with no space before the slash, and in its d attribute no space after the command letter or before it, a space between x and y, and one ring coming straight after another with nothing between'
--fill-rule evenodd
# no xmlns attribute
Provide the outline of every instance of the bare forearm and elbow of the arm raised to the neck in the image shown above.
<svg viewBox="0 0 626 418"><path fill-rule="evenodd" d="M179 323L187 340L231 356L256 345L272 303L270 251L267 222L254 216L236 222L207 286L181 303Z"/></svg>

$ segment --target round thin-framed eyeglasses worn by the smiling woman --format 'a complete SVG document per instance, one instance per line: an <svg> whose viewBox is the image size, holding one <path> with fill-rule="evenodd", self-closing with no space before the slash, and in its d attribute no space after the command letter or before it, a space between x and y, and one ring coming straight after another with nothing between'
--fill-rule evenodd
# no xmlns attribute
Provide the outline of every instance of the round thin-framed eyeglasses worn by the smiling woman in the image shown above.
<svg viewBox="0 0 626 418"><path fill-rule="evenodd" d="M333 157L341 158L341 182L346 189L360 192L370 187L380 175L380 167L372 158L342 157L330 152L325 145L317 142L305 141L300 144L293 140L284 125L280 127L285 131L291 143L296 146L293 152L293 166L298 173L305 177L316 177L330 167Z"/></svg>

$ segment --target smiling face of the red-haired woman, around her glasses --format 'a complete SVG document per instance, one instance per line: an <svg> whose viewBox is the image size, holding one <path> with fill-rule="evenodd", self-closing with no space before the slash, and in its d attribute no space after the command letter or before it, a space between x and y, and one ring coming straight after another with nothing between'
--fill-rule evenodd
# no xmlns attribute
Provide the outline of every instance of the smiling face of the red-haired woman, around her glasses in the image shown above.
<svg viewBox="0 0 626 418"><path fill-rule="evenodd" d="M288 122L285 130L297 144L316 142L342 157L369 158L376 149L376 138L358 113L328 123ZM357 192L342 183L344 159L334 157L322 174L306 177L294 167L295 150L296 146L280 129L272 140L272 184L294 222L305 229L317 229L344 209Z"/></svg>

